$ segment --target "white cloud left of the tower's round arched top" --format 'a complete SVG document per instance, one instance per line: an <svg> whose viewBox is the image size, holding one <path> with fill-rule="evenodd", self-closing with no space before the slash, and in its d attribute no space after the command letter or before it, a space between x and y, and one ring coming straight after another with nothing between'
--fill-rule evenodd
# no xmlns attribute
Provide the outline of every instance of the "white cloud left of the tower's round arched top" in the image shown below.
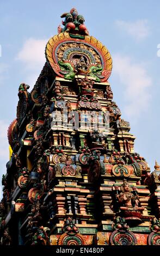
<svg viewBox="0 0 160 256"><path fill-rule="evenodd" d="M27 39L19 53L17 53L16 60L24 64L25 83L30 85L30 89L34 86L40 72L46 62L45 47L46 40L37 40L34 38Z"/></svg>

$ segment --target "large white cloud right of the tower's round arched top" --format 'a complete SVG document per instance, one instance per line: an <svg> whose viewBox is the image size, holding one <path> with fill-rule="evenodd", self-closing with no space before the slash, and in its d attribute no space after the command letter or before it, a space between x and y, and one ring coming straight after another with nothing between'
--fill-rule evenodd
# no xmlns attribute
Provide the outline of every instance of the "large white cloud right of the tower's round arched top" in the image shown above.
<svg viewBox="0 0 160 256"><path fill-rule="evenodd" d="M137 119L149 106L152 78L147 74L143 63L133 62L130 57L121 54L115 54L113 60L113 72L118 75L120 83L124 86L122 90L123 101L126 102L125 114L129 118Z"/></svg>

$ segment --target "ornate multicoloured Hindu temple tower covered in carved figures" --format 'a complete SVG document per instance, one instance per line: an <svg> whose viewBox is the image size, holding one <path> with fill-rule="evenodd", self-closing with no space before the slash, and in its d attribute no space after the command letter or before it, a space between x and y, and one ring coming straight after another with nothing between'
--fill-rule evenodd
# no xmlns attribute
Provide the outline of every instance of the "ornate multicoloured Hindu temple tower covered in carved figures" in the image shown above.
<svg viewBox="0 0 160 256"><path fill-rule="evenodd" d="M134 153L112 57L75 8L33 90L21 83L0 203L2 245L158 245L160 167Z"/></svg>

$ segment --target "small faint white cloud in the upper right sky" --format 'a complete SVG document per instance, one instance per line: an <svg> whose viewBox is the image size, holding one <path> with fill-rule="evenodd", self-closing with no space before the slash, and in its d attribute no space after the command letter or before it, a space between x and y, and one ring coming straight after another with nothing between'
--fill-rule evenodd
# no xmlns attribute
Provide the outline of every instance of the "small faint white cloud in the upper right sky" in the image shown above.
<svg viewBox="0 0 160 256"><path fill-rule="evenodd" d="M134 22L127 22L122 20L115 21L115 25L122 31L127 32L133 36L137 41L143 40L150 34L150 29L147 20L137 20Z"/></svg>

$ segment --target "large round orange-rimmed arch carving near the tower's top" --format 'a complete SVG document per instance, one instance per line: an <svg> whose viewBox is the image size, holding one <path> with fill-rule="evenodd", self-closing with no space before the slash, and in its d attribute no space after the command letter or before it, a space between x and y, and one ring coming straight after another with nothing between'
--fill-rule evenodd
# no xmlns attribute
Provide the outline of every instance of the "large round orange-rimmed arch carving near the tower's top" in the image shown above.
<svg viewBox="0 0 160 256"><path fill-rule="evenodd" d="M76 74L84 74L104 82L112 71L112 58L107 48L89 35L85 35L84 40L70 38L66 32L54 35L47 42L46 59L58 76L70 80Z"/></svg>

